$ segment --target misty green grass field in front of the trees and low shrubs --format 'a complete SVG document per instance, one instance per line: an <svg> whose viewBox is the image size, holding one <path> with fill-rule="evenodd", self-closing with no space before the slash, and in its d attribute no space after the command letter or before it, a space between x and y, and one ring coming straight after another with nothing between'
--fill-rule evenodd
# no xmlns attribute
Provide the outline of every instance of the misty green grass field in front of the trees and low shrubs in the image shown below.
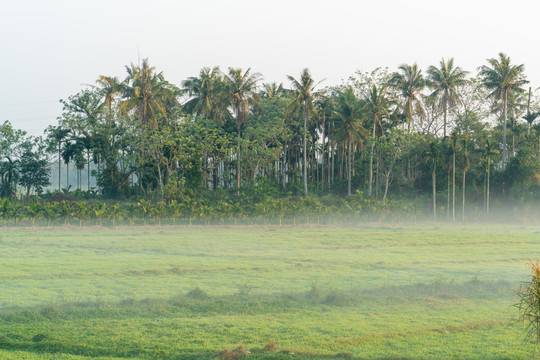
<svg viewBox="0 0 540 360"><path fill-rule="evenodd" d="M529 359L539 253L503 225L8 229L0 358Z"/></svg>

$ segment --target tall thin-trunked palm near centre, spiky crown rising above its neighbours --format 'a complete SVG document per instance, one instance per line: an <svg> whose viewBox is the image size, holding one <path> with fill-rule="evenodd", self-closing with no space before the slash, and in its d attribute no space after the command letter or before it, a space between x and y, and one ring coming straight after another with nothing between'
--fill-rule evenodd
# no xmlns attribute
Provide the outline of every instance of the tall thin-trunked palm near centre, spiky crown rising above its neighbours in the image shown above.
<svg viewBox="0 0 540 360"><path fill-rule="evenodd" d="M309 113L315 111L313 90L315 90L318 84L315 84L308 69L302 70L299 80L296 80L291 75L287 75L287 78L291 81L293 91L295 92L295 98L290 110L304 108L304 196L307 196L307 122Z"/></svg>

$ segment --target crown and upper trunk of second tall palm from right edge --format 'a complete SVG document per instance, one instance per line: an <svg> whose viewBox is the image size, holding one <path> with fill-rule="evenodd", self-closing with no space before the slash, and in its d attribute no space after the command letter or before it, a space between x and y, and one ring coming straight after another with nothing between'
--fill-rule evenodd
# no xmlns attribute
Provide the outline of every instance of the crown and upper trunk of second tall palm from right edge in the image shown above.
<svg viewBox="0 0 540 360"><path fill-rule="evenodd" d="M458 101L457 89L467 83L467 72L459 66L454 68L454 58L448 61L444 59L439 63L439 68L430 66L427 70L427 85L433 90L432 96L440 101L440 107L444 113L444 137L446 137L446 116Z"/></svg>

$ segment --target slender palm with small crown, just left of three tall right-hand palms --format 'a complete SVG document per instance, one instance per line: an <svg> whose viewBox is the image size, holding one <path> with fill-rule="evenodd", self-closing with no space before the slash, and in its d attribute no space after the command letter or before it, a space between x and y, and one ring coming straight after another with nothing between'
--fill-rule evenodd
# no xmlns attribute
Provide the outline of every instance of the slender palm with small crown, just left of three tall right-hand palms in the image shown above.
<svg viewBox="0 0 540 360"><path fill-rule="evenodd" d="M371 191L373 186L373 152L375 150L375 136L377 125L381 129L381 133L384 134L382 127L382 119L390 116L390 108L393 105L393 101L389 98L389 93L385 85L377 87L373 85L369 91L368 96L365 99L365 111L367 115L373 120L373 132L371 143L371 152L369 155L369 186L368 196L371 197Z"/></svg>

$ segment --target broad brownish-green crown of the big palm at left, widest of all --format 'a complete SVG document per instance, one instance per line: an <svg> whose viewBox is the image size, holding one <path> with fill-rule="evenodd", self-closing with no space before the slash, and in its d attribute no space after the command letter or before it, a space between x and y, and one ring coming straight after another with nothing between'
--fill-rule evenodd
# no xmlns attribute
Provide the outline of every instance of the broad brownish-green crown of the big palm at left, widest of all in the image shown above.
<svg viewBox="0 0 540 360"><path fill-rule="evenodd" d="M120 103L120 111L133 111L141 126L157 128L160 119L167 119L169 105L177 105L173 87L163 73L156 74L148 59L138 66L126 66L126 70L128 76L122 83L125 100Z"/></svg>

